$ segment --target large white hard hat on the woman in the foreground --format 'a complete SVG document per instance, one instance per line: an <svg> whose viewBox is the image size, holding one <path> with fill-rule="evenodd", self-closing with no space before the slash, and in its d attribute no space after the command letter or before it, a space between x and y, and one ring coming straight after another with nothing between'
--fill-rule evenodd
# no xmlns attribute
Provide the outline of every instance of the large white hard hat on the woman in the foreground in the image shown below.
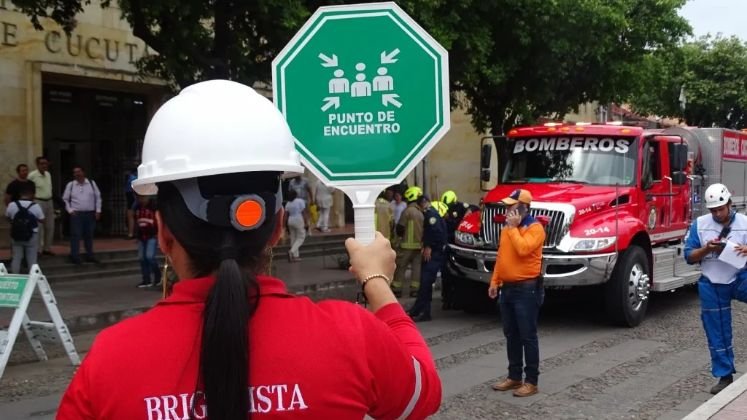
<svg viewBox="0 0 747 420"><path fill-rule="evenodd" d="M132 188L238 172L303 173L288 123L249 86L211 80L189 86L156 112Z"/></svg>

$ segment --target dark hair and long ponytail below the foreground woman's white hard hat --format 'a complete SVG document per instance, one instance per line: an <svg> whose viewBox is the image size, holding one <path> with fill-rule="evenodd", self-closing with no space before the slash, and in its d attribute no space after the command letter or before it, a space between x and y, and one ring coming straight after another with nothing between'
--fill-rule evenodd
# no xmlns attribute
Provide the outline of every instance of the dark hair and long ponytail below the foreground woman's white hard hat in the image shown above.
<svg viewBox="0 0 747 420"><path fill-rule="evenodd" d="M274 194L280 187L279 174L269 172L215 175L199 182L204 198ZM190 417L196 418L195 407L205 404L210 420L245 419L251 408L249 320L259 305L257 274L267 266L265 248L277 213L269 206L264 223L250 231L211 225L190 212L171 183L158 185L158 205L164 224L189 256L190 275L216 278L205 300Z"/></svg>

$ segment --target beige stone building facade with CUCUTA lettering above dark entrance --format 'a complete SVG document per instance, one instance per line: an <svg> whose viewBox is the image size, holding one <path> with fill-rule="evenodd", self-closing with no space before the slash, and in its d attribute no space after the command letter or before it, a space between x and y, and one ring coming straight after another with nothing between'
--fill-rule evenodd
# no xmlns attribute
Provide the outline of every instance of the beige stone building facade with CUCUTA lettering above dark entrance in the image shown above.
<svg viewBox="0 0 747 420"><path fill-rule="evenodd" d="M50 20L42 24L36 30L11 1L0 0L0 186L15 177L17 164L33 170L35 158L45 155L61 195L72 167L81 165L102 190L99 234L124 234L125 172L138 164L148 121L171 93L163 81L138 74L136 61L152 52L117 8L85 7L70 35ZM477 202L480 137L468 116L454 112L450 132L408 183L425 185L434 197L453 189ZM352 211L337 192L332 224L346 222ZM0 232L0 243L7 237Z"/></svg>

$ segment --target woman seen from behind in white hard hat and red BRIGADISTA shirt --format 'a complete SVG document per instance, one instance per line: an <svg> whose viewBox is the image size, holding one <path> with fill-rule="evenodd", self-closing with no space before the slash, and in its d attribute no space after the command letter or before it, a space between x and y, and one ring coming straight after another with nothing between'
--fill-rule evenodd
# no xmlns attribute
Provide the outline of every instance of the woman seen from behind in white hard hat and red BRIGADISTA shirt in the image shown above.
<svg viewBox="0 0 747 420"><path fill-rule="evenodd" d="M302 171L272 103L214 80L151 121L133 183L157 194L158 240L182 279L103 331L58 419L423 418L441 384L389 287L394 252L348 239L371 312L313 303L264 274L282 232L280 177Z"/></svg>

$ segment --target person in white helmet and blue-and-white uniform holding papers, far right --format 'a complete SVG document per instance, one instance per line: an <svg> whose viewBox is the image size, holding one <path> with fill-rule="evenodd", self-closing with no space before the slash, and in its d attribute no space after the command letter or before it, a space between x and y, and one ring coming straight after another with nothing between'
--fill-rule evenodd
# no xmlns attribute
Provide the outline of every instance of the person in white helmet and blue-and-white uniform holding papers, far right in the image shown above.
<svg viewBox="0 0 747 420"><path fill-rule="evenodd" d="M711 214L698 217L685 239L685 260L699 263L703 274L698 281L701 319L711 353L711 373L719 381L711 388L718 394L734 380L731 301L747 302L747 271L719 259L728 243L747 255L747 216L732 209L731 193L723 184L706 189L705 205Z"/></svg>

